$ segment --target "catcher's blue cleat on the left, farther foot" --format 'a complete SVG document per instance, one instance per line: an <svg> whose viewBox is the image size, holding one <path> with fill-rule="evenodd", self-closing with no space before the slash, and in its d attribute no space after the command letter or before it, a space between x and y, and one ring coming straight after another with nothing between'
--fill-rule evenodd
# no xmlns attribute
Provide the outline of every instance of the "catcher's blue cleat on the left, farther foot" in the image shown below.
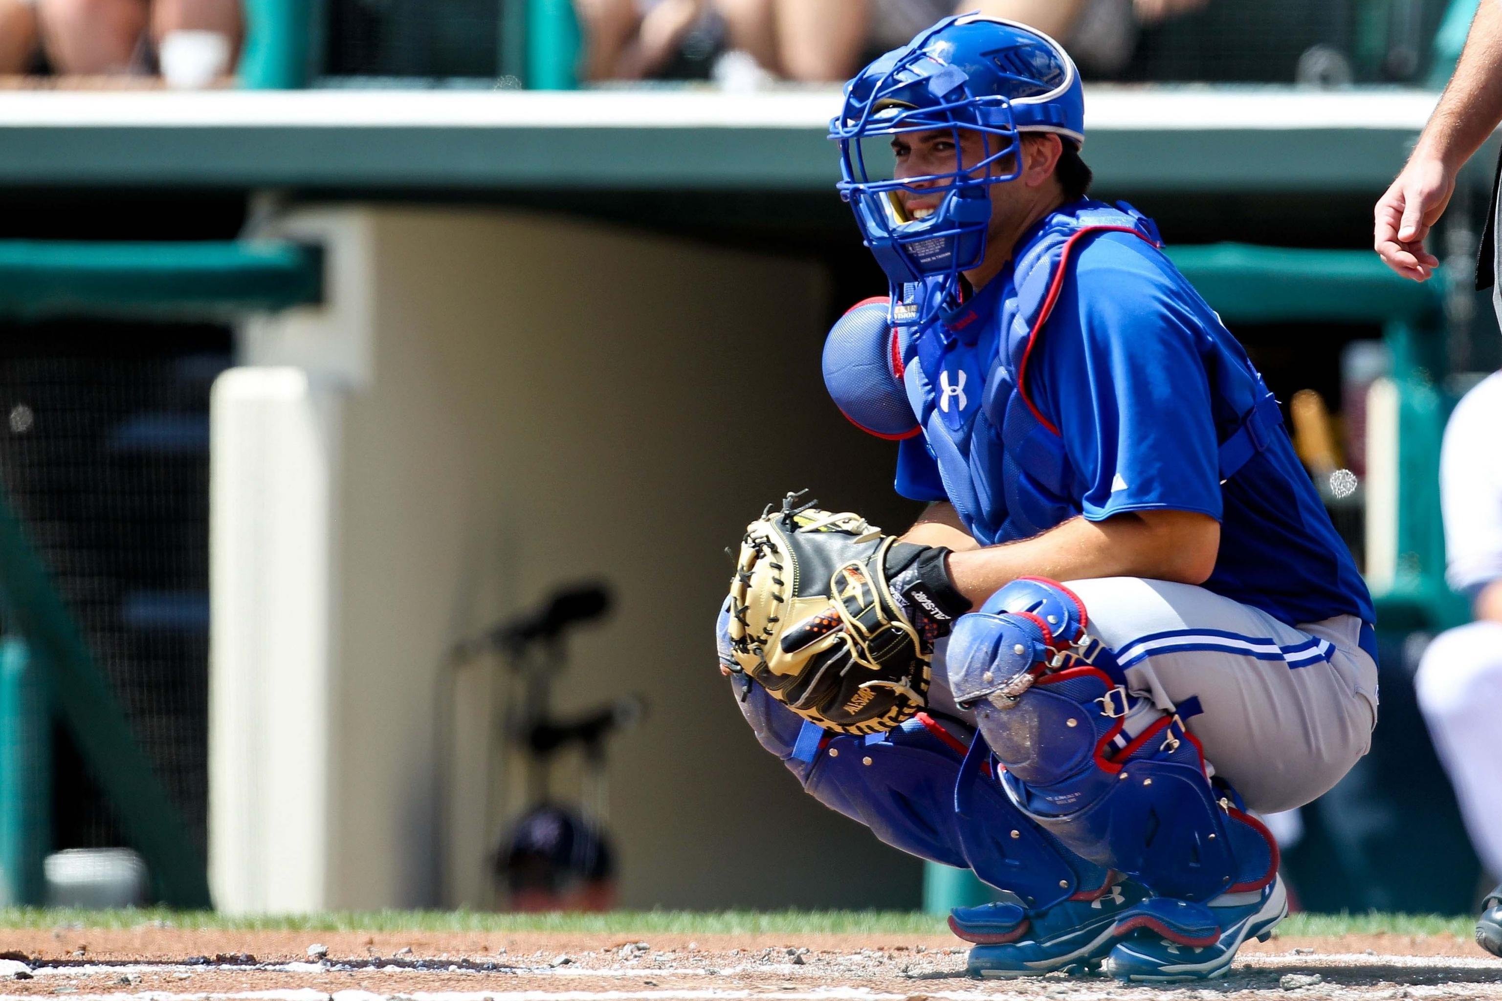
<svg viewBox="0 0 1502 1001"><path fill-rule="evenodd" d="M1116 923L1146 891L1122 878L1093 900L1065 900L1041 914L1015 903L955 908L949 929L975 942L966 971L972 977L1041 977L1101 965L1116 939Z"/></svg>

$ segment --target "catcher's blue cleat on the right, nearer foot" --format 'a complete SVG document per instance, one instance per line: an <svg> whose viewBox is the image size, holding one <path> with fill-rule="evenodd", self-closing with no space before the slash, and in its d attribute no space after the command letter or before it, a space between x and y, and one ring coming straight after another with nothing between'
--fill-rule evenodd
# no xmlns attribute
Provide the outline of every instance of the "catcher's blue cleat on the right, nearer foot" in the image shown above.
<svg viewBox="0 0 1502 1001"><path fill-rule="evenodd" d="M1272 927L1289 915L1283 876L1275 876L1263 890L1238 893L1230 900L1227 897L1220 897L1224 903L1215 906L1187 905L1209 911L1218 921L1220 933L1206 944L1173 942L1152 927L1143 926L1110 950L1107 969L1125 981L1166 983L1223 975L1230 969L1230 960L1236 957L1236 950L1244 941L1248 938L1268 941Z"/></svg>

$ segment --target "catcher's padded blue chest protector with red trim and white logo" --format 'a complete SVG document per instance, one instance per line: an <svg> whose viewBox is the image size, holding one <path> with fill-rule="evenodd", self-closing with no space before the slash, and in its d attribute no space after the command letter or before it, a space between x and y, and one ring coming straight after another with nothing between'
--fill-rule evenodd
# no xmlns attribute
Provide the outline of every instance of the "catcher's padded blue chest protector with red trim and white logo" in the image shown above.
<svg viewBox="0 0 1502 1001"><path fill-rule="evenodd" d="M1131 206L1078 201L1047 216L1015 263L966 305L918 330L903 383L934 453L945 492L981 545L1026 539L1080 513L1081 489L1063 440L1033 405L1024 380L1063 287L1069 261L1099 233L1131 233L1160 246L1157 227ZM1281 420L1241 345L1206 330L1218 413L1239 414L1221 443L1221 479L1262 450Z"/></svg>

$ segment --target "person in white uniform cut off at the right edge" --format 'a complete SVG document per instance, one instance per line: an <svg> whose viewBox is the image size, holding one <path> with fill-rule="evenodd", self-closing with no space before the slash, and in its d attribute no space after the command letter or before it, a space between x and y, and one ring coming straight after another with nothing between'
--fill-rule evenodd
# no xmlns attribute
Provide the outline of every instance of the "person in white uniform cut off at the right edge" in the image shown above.
<svg viewBox="0 0 1502 1001"><path fill-rule="evenodd" d="M1446 578L1470 597L1475 621L1434 638L1413 684L1439 758L1455 788L1466 830L1494 878L1502 878L1502 372L1455 407L1440 450ZM1502 887L1488 897L1478 941L1502 948ZM1502 954L1502 953L1499 953Z"/></svg>

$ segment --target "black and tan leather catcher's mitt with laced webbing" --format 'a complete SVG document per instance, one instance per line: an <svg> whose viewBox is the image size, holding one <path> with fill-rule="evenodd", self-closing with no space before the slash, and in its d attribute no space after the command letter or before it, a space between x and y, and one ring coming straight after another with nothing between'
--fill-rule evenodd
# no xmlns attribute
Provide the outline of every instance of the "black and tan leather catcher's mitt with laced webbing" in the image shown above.
<svg viewBox="0 0 1502 1001"><path fill-rule="evenodd" d="M799 497L746 525L727 666L825 729L891 729L924 708L933 641L969 609L943 569L949 551Z"/></svg>

